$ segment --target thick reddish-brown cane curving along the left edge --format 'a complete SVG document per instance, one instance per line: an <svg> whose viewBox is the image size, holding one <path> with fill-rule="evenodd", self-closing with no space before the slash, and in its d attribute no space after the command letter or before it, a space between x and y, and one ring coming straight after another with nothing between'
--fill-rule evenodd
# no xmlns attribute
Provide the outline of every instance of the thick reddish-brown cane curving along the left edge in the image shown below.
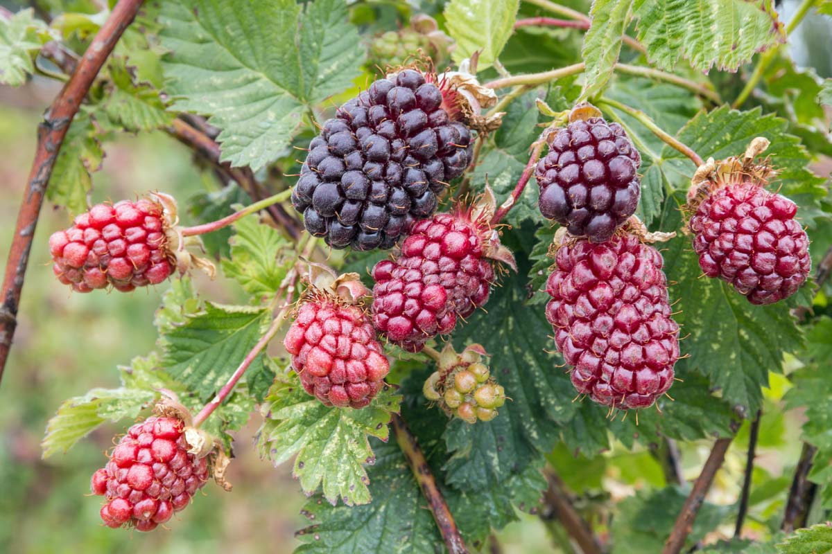
<svg viewBox="0 0 832 554"><path fill-rule="evenodd" d="M75 71L52 101L52 105L43 115L43 121L37 127L37 150L29 173L26 191L20 209L17 211L12 248L8 253L6 275L2 284L0 297L0 379L6 367L8 353L12 348L12 337L17 327L17 306L23 287L23 278L32 249L32 238L37 227L43 198L47 191L52 169L55 167L57 154L61 150L69 125L77 114L84 96L87 96L92 81L101 71L107 56L126 27L130 25L136 12L141 7L141 0L120 0L107 18L104 25L92 39L87 52L78 61Z"/></svg>

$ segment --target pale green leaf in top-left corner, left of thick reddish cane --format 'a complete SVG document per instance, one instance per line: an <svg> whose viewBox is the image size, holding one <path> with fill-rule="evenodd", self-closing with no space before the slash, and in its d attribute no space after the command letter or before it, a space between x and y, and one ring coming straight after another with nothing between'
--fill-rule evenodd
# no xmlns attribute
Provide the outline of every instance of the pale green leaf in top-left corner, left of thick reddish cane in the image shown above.
<svg viewBox="0 0 832 554"><path fill-rule="evenodd" d="M28 8L0 16L0 85L21 86L35 72L32 53L52 38L47 24Z"/></svg>

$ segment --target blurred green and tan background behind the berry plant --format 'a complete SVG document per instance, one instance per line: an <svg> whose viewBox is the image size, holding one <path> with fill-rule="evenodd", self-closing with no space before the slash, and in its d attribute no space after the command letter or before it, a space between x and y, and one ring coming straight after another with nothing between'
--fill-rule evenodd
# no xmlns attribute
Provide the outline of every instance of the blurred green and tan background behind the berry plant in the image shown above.
<svg viewBox="0 0 832 554"><path fill-rule="evenodd" d="M786 2L785 15L789 6ZM821 76L830 76L829 22L805 22L805 37L796 35L794 54ZM825 37L825 40L824 40ZM53 82L35 78L12 90L0 87L0 259L5 270L35 144L42 110L57 92ZM828 164L820 174L828 174ZM175 193L180 199L205 192L216 184L193 164L191 151L162 134L123 135L108 145L102 170L94 175L92 200L131 198L147 190ZM187 222L187 220L186 220ZM152 533L126 532L103 527L99 498L89 495L89 478L102 467L112 437L123 431L105 425L70 453L41 459L40 440L47 419L62 400L82 395L92 387L118 385L116 367L154 346L151 321L167 285L131 294L70 294L52 276L47 238L69 223L67 213L44 206L37 227L32 259L20 306L12 356L0 388L0 552L291 552L294 532L307 521L300 515L303 493L291 477L290 464L273 468L260 461L252 435L259 415L235 434L235 462L230 468L232 493L210 484L201 498L181 512L167 527ZM201 294L222 300L234 292L220 279L197 280ZM672 294L672 292L671 292ZM750 529L765 529L779 518L790 473L800 453L801 414L783 414L777 408L787 382L771 375L761 425ZM717 475L709 500L729 506L740 490L745 466L748 429L730 447L726 464ZM682 459L686 478L695 478L710 444L686 444ZM613 449L606 463L576 459L563 449L551 456L558 471L573 488L604 489L614 500L646 487L664 486L661 467L646 452ZM765 485L765 486L763 486ZM602 500L603 501L603 500ZM592 499L589 500L592 502ZM556 526L535 515L498 533L503 552L557 552ZM730 536L732 529L721 530ZM552 540L554 537L554 540ZM568 552L568 551L567 551Z"/></svg>

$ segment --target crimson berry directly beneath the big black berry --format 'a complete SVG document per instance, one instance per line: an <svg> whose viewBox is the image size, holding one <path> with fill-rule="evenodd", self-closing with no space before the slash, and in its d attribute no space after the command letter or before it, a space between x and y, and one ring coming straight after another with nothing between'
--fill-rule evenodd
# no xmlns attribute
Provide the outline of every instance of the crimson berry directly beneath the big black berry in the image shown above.
<svg viewBox="0 0 832 554"><path fill-rule="evenodd" d="M401 252L373 268L373 324L389 341L418 352L488 302L499 248L483 218L468 209L420 221Z"/></svg>

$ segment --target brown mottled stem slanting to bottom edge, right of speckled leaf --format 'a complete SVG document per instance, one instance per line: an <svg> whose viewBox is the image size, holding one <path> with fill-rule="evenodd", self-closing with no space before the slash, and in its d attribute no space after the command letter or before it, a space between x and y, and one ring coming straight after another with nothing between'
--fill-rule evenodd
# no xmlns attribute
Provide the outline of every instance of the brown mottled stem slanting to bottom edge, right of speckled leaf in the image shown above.
<svg viewBox="0 0 832 554"><path fill-rule="evenodd" d="M448 547L448 552L450 554L467 554L468 548L465 547L463 537L459 534L457 522L453 521L448 503L445 502L445 498L436 486L436 479L433 478L428 460L424 458L422 448L416 442L416 437L410 433L404 419L401 419L398 414L393 415L390 426L393 428L396 441L402 449L410 470L414 473L419 488L422 489L424 498L428 500L428 507L430 507L430 512L433 513L433 520L439 528L445 546Z"/></svg>

